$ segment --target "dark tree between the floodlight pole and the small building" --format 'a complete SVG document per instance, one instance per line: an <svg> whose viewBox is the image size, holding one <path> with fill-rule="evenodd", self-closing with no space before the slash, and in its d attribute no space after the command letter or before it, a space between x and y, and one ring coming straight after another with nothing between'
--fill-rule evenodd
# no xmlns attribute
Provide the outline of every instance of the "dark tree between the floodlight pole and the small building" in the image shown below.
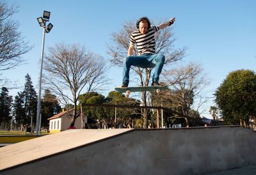
<svg viewBox="0 0 256 175"><path fill-rule="evenodd" d="M42 117L41 117L41 126L47 127L48 118L58 114L61 111L60 104L55 95L51 94L51 91L46 89L44 91L44 98L41 102L42 105Z"/></svg>

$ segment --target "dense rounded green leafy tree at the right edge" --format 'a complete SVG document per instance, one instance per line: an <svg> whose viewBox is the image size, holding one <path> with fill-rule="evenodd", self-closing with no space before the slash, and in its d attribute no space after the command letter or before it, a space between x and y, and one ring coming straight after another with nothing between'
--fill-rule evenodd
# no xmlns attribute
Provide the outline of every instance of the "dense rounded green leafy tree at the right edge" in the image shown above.
<svg viewBox="0 0 256 175"><path fill-rule="evenodd" d="M214 95L223 119L228 124L241 120L248 126L250 118L255 118L256 75L252 70L230 72Z"/></svg>

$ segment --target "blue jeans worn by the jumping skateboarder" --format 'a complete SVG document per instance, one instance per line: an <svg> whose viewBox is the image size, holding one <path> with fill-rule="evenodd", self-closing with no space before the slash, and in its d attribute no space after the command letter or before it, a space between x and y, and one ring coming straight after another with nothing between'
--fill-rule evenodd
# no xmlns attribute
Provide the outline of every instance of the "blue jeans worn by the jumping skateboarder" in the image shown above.
<svg viewBox="0 0 256 175"><path fill-rule="evenodd" d="M159 80L159 75L162 72L164 65L163 54L143 54L140 56L127 56L123 62L123 83L129 84L129 72L131 66L137 66L140 68L155 68L153 75L153 82Z"/></svg>

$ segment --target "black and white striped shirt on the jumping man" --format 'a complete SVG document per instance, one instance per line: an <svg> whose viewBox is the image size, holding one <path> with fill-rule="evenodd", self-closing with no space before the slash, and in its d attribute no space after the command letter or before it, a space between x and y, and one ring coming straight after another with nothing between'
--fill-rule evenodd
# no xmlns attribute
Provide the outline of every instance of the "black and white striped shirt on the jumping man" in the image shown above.
<svg viewBox="0 0 256 175"><path fill-rule="evenodd" d="M131 34L130 44L136 43L140 55L156 54L155 33L159 30L157 26L151 26L147 33L141 34L140 31L134 31Z"/></svg>

